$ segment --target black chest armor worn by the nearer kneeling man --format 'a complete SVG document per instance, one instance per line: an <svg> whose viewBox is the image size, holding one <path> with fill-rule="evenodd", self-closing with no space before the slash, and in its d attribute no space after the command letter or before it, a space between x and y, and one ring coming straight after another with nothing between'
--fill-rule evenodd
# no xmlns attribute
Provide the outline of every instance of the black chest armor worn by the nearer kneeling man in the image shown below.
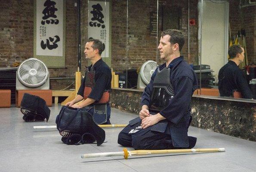
<svg viewBox="0 0 256 172"><path fill-rule="evenodd" d="M160 112L173 98L174 89L170 81L170 71L170 68L163 68L161 71L157 68L150 96L150 111Z"/></svg>

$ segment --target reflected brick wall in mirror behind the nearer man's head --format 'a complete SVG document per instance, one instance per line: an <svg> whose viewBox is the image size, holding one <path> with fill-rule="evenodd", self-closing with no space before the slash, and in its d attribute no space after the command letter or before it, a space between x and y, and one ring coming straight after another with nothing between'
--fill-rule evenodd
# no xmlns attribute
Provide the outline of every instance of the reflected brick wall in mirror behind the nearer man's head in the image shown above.
<svg viewBox="0 0 256 172"><path fill-rule="evenodd" d="M167 0L168 1L168 0ZM128 69L137 69L145 61L156 61L157 39L149 34L150 12L157 10L156 0L128 1ZM197 21L197 0L190 1L190 18ZM114 4L114 5L113 5ZM180 6L182 16L180 28L186 36L186 43L182 49L182 55L188 61L188 6L186 0L169 0L164 5ZM181 5L182 4L182 5ZM159 5L161 6L161 4ZM143 10L141 10L143 9ZM159 23L161 13L159 12ZM159 25L161 30L161 24ZM160 31L158 42L160 40ZM158 63L160 61L158 53ZM190 27L190 59L189 63L197 64L197 25ZM112 67L115 71L126 69L126 2L112 1Z"/></svg>

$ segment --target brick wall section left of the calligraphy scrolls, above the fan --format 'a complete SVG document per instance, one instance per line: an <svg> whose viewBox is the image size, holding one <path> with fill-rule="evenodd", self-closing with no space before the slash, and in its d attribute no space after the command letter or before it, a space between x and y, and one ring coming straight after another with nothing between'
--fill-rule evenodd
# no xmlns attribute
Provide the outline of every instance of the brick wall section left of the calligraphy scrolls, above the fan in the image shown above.
<svg viewBox="0 0 256 172"><path fill-rule="evenodd" d="M0 68L33 57L33 0L0 1Z"/></svg>

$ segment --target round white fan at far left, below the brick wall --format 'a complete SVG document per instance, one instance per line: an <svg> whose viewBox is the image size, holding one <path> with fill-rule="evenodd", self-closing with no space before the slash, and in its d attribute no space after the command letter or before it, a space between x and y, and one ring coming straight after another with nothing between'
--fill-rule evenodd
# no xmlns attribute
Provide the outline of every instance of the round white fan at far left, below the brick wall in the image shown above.
<svg viewBox="0 0 256 172"><path fill-rule="evenodd" d="M48 69L42 61L29 58L20 64L17 75L20 82L25 86L38 87L48 79Z"/></svg>

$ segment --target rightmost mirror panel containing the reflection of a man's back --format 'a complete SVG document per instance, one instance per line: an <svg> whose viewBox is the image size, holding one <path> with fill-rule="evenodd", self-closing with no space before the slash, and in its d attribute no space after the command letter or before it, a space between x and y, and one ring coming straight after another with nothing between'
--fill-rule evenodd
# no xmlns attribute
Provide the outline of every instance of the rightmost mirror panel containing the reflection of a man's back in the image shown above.
<svg viewBox="0 0 256 172"><path fill-rule="evenodd" d="M255 68L253 65L249 66L254 63L255 55L253 51L247 51L247 49L252 48L251 38L254 37L254 31L251 31L250 25L255 25L250 18L246 18L250 8L252 6L243 6L234 0L198 1L198 55L200 63L200 68L198 68L200 90L197 92L198 94L219 96L218 87L220 87L221 96L256 98L256 85L253 82L255 80ZM235 58L228 56L228 48L232 45L240 45L244 49L244 58L239 59L237 63L235 63ZM219 73L220 69L227 63L229 70L239 67L243 76L236 79L239 74L229 74L227 70L222 70L223 72ZM230 66L231 64L232 66ZM227 76L230 76L229 78L232 80L227 80ZM219 79L222 80L219 81ZM244 81L242 82L242 80ZM231 88L242 94L233 95L234 89Z"/></svg>

